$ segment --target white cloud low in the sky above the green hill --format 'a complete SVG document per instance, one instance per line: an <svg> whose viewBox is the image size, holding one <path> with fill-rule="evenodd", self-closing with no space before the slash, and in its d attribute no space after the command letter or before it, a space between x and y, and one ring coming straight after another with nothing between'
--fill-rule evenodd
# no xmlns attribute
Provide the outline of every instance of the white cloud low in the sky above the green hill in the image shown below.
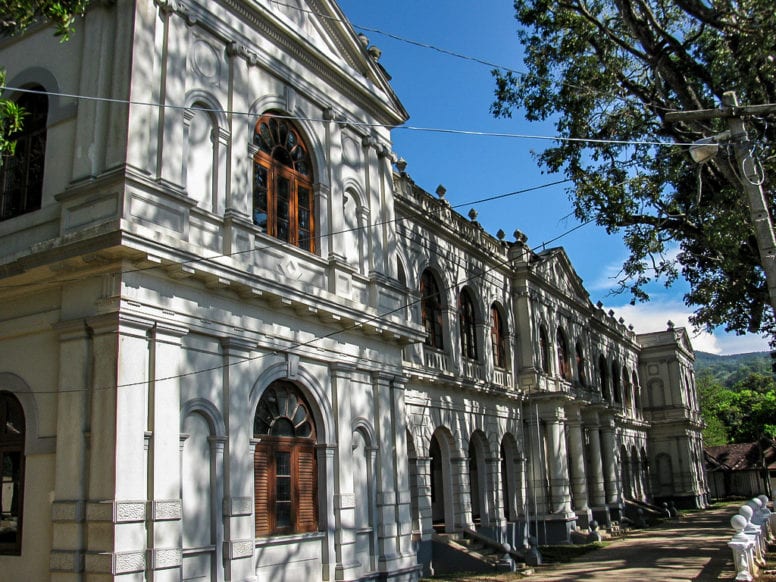
<svg viewBox="0 0 776 582"><path fill-rule="evenodd" d="M687 329L693 348L699 352L728 355L769 349L768 341L758 335L737 336L722 330L713 334L697 332L690 325L690 312L681 301L656 300L637 305L606 306L605 309L613 309L615 316L622 317L626 325L633 325L636 333L665 330L670 320L676 327Z"/></svg>

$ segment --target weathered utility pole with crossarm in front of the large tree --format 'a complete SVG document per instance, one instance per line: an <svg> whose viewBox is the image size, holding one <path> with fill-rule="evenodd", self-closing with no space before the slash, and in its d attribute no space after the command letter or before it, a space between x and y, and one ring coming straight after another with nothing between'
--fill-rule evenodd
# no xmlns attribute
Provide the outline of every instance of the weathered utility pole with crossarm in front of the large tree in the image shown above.
<svg viewBox="0 0 776 582"><path fill-rule="evenodd" d="M666 114L665 119L667 122L727 119L728 131L730 132L729 140L736 155L739 181L744 188L746 202L749 206L749 215L754 226L771 307L776 313L776 236L773 232L771 213L762 188L764 177L757 173L757 165L752 159L749 147L749 136L742 119L744 115L776 113L776 104L739 107L735 92L726 91L722 96L722 105L721 109L671 112Z"/></svg>

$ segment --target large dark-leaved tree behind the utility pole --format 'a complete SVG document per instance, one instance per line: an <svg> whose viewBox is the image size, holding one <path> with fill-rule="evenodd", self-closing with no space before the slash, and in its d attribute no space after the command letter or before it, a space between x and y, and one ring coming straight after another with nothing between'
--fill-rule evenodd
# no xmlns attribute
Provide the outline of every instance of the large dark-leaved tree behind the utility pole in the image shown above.
<svg viewBox="0 0 776 582"><path fill-rule="evenodd" d="M620 289L689 283L699 327L774 338L773 311L733 153L695 166L686 147L722 120L664 122L670 111L776 103L773 0L516 0L527 72L494 71L496 116L521 109L554 121L559 141L539 156L573 182L576 216L620 231L630 255ZM769 203L776 126L756 133ZM776 121L776 120L771 120ZM665 144L665 145L663 145Z"/></svg>

